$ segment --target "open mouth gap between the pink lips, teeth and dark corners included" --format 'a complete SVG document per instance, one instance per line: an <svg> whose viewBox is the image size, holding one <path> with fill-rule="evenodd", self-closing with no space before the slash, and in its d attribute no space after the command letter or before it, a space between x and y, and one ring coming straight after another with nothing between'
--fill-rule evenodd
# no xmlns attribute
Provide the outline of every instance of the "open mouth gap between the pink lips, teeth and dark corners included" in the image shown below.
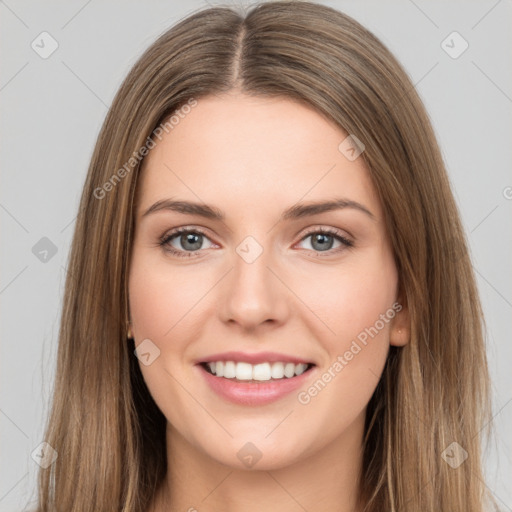
<svg viewBox="0 0 512 512"><path fill-rule="evenodd" d="M199 366L219 379L249 384L292 380L311 371L315 364L285 361L258 364L244 361L204 361Z"/></svg>

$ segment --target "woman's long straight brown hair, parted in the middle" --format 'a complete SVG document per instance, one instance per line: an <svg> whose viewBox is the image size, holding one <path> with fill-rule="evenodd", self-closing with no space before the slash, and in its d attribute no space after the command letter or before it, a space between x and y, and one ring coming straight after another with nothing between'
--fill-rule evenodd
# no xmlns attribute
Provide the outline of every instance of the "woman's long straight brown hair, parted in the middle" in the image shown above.
<svg viewBox="0 0 512 512"><path fill-rule="evenodd" d="M393 55L349 16L299 1L239 11L202 9L161 35L105 119L71 246L45 435L58 458L40 470L38 510L144 512L165 476L166 419L126 338L141 148L191 99L238 89L295 99L356 135L384 207L411 339L391 349L368 404L362 508L482 512L483 318L424 106ZM468 457L452 467L447 449Z"/></svg>

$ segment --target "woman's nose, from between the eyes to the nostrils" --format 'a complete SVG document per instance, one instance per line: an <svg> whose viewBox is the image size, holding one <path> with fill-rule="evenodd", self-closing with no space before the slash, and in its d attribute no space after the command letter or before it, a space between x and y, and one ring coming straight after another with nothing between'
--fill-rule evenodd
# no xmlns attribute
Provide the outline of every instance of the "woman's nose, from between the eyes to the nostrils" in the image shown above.
<svg viewBox="0 0 512 512"><path fill-rule="evenodd" d="M261 249L254 241L241 244L221 289L222 320L236 323L244 330L254 330L260 324L281 325L290 311L290 291L283 277L279 278L279 265L273 260L272 251Z"/></svg>

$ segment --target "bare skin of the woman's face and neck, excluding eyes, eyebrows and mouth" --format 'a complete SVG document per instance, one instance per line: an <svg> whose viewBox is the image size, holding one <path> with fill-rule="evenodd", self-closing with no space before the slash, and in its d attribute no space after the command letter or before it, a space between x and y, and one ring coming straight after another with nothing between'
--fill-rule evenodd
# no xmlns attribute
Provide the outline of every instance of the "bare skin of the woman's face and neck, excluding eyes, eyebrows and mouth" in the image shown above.
<svg viewBox="0 0 512 512"><path fill-rule="evenodd" d="M150 339L160 350L140 368L168 421L168 474L151 510L359 510L366 406L390 344L408 342L409 320L368 169L338 149L346 136L291 99L231 92L200 98L146 157L129 300L136 345ZM298 202L335 197L373 218L343 208L279 222ZM142 216L167 198L214 205L225 220ZM206 233L190 258L159 245L178 227ZM315 244L314 228L335 229L353 246ZM236 252L247 236L263 249L252 263ZM194 252L180 235L169 245ZM401 311L307 404L296 392L262 406L229 403L194 365L228 350L295 354L316 363L307 390L396 302ZM247 442L262 454L251 468L237 457Z"/></svg>

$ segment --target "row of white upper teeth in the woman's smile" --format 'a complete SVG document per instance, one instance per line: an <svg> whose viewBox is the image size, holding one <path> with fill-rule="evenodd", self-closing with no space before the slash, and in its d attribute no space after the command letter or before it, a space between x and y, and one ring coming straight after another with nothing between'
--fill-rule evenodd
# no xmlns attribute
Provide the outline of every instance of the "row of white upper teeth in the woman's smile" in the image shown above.
<svg viewBox="0 0 512 512"><path fill-rule="evenodd" d="M238 380L259 380L290 379L295 375L302 375L307 364L294 363L259 363L252 365L234 361L215 361L208 363L210 371L217 377Z"/></svg>

